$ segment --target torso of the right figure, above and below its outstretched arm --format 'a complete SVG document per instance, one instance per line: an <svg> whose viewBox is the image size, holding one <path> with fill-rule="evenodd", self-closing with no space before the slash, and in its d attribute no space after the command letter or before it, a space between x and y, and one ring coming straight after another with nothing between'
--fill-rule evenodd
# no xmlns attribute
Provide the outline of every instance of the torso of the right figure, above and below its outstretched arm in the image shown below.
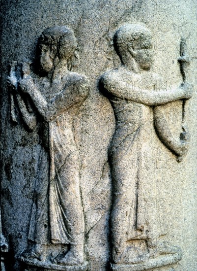
<svg viewBox="0 0 197 271"><path fill-rule="evenodd" d="M107 82L107 84L104 83L104 86L108 91L116 120L116 129L111 145L112 152L126 137L132 137L138 129L143 127L143 129L147 130L150 128L149 126L153 128L152 107L121 97L115 97L110 93L111 88L115 88L116 83L120 83L120 81L132 84L134 89L137 87L142 90L156 90L158 87L158 76L154 73L147 73L139 75L121 67L105 74L104 82Z"/></svg>

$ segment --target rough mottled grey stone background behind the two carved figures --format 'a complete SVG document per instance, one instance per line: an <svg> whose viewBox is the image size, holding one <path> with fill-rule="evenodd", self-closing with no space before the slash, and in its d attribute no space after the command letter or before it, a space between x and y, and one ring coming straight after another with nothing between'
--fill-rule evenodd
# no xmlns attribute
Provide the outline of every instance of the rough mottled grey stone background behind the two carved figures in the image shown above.
<svg viewBox="0 0 197 271"><path fill-rule="evenodd" d="M18 119L19 124L12 121L10 94L6 83L10 65L16 61L18 69L21 70L21 63L27 60L35 63L38 38L46 29L54 26L72 29L78 43L78 59L73 62L71 71L84 75L89 81L89 94L73 122L73 134L80 157L84 255L88 270L110 270L113 259L110 232L113 178L108 150L115 131L115 117L111 102L99 89L99 80L102 74L119 67L121 63L113 47L113 35L116 30L126 24L142 24L152 33L154 49L152 71L163 78L158 79L156 87L160 88L162 85L161 88L164 90L180 86L183 80L177 59L180 56L181 37L186 37L187 52L191 58L186 73L188 82L194 85L194 94L185 104L185 122L191 138L188 153L180 163L156 134L153 119L149 118L150 109L146 108L147 111L140 116L141 122L151 124L139 142L142 150L140 178L143 184L140 190L142 200L139 203L142 210L141 219L148 217L154 230L167 233L165 236L167 241L179 246L183 253L182 260L178 263L154 270L195 271L197 225L195 1L2 0L1 2L1 223L2 232L9 246L9 252L6 252L9 261L5 260L7 270L23 268L19 257L29 245L28 233L41 152L38 127L29 131L22 118ZM148 82L151 91L151 79ZM175 101L162 105L161 108L161 114L165 115L169 130L175 138L179 138L181 131L182 104L182 101ZM139 160L132 158L135 151L129 154L131 139L129 140L128 160L133 169L137 170ZM136 148L138 151L138 147ZM128 163L125 163L123 171L126 172L127 168ZM144 191L146 196L143 196ZM132 204L135 206L135 199ZM52 254L58 249L62 252L61 247L58 249L54 247L56 246L51 245L49 248ZM27 270L32 268L29 267Z"/></svg>

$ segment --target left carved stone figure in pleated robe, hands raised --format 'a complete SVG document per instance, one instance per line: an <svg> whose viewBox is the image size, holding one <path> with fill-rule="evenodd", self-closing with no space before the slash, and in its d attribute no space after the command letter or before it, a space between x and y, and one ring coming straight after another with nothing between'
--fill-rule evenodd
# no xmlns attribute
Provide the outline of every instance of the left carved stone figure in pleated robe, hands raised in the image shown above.
<svg viewBox="0 0 197 271"><path fill-rule="evenodd" d="M58 270L67 270L67 266L71 266L69 270L86 270L80 157L73 120L88 95L89 83L84 75L68 69L76 49L71 29L49 28L39 39L39 69L35 66L38 74L26 62L21 76L13 63L8 78L13 121L18 122L18 110L29 130L39 127L41 138L28 234L32 245L21 259L30 265ZM50 244L67 246L49 258Z"/></svg>

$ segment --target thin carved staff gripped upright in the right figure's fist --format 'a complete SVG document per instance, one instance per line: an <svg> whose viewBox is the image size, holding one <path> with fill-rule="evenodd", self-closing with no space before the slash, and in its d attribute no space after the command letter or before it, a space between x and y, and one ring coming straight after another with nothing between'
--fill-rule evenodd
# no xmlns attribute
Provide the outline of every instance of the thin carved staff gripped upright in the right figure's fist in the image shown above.
<svg viewBox="0 0 197 271"><path fill-rule="evenodd" d="M187 55L187 44L186 44L186 38L181 37L181 43L180 43L180 57L178 58L178 62L180 63L180 71L183 77L183 82L186 83L186 71L187 67L190 64L190 58ZM185 104L186 100L183 100L183 109L182 109L182 123L185 122Z"/></svg>

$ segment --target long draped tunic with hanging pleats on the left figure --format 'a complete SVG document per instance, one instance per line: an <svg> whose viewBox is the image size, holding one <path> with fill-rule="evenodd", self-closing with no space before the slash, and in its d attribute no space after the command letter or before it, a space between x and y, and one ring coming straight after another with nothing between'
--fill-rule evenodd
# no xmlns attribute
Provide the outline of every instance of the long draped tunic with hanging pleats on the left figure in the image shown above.
<svg viewBox="0 0 197 271"><path fill-rule="evenodd" d="M73 135L73 119L88 94L88 87L84 77L77 73L71 73L69 77L71 76L73 84L69 83L68 88L73 92L70 92L70 101L64 101L62 96L56 106L56 117L48 123L43 122L41 126L42 146L28 234L30 240L41 244L68 244L72 242L74 234L71 232L72 217L66 210L65 204L65 195L69 194L64 186L70 178L62 177L62 174L60 176L59 172L67 168L67 174L72 174L73 170L76 175L74 181L79 186L79 161L77 161L78 151ZM74 152L77 153L74 158L76 165L72 166L67 158ZM77 196L79 198L80 194ZM69 202L69 199L67 200Z"/></svg>

